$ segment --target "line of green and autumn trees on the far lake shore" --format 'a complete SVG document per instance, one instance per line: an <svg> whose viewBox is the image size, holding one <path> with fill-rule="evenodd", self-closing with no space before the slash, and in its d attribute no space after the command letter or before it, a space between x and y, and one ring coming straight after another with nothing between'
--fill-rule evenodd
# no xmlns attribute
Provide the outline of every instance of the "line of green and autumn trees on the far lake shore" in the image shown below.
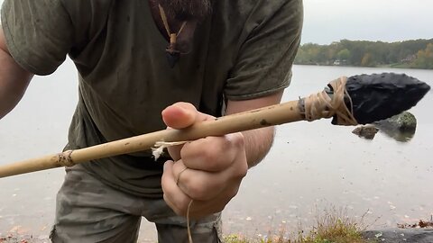
<svg viewBox="0 0 433 243"><path fill-rule="evenodd" d="M433 39L306 43L300 46L295 64L433 69Z"/></svg>

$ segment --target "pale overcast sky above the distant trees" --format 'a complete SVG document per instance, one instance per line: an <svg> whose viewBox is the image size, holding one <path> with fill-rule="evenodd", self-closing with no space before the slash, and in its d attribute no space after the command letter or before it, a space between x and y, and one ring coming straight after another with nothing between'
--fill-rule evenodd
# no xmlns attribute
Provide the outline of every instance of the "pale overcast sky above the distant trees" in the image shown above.
<svg viewBox="0 0 433 243"><path fill-rule="evenodd" d="M304 0L304 11L302 43L433 38L433 0Z"/></svg>

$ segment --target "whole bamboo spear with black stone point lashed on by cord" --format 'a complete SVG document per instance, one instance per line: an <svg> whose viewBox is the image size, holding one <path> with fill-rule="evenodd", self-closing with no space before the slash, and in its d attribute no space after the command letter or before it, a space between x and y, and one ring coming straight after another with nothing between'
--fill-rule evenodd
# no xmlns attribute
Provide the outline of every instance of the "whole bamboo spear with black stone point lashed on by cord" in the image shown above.
<svg viewBox="0 0 433 243"><path fill-rule="evenodd" d="M154 148L158 142L222 136L294 121L332 118L335 125L372 123L410 109L429 89L426 83L404 74L342 76L329 82L323 91L298 100L226 115L182 130L159 130L0 166L0 178L143 151Z"/></svg>

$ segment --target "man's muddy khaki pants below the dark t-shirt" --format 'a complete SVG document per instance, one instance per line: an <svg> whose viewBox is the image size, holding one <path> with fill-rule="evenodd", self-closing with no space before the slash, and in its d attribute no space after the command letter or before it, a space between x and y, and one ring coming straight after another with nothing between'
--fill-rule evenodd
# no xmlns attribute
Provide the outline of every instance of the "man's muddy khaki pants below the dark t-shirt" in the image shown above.
<svg viewBox="0 0 433 243"><path fill-rule="evenodd" d="M222 242L220 213L190 222L194 242ZM81 166L67 169L57 195L54 243L136 242L142 217L158 229L160 243L188 242L187 220L163 199L143 199L101 183Z"/></svg>

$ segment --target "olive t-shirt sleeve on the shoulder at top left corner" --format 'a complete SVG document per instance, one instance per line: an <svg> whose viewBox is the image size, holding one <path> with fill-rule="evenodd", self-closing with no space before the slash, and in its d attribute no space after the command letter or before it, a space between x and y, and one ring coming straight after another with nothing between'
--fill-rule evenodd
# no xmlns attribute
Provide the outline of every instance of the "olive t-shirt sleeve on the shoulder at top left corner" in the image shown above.
<svg viewBox="0 0 433 243"><path fill-rule="evenodd" d="M14 60L35 75L49 75L73 42L69 14L59 0L5 0L2 27Z"/></svg>

